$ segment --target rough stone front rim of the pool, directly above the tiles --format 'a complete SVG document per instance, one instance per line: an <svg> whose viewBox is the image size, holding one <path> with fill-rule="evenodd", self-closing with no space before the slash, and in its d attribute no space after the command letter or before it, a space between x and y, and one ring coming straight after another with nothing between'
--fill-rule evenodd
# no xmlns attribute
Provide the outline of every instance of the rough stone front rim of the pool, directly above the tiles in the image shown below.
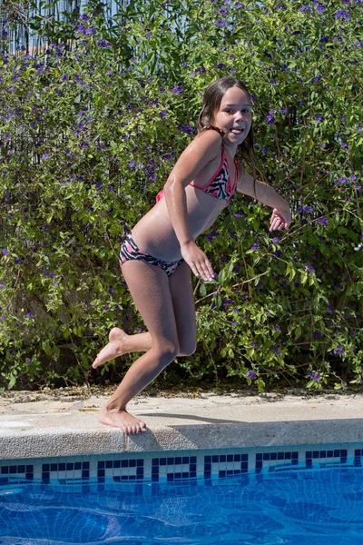
<svg viewBox="0 0 363 545"><path fill-rule="evenodd" d="M0 433L0 460L87 454L199 451L363 441L363 419L152 426L137 435L115 428L45 428Z"/></svg>

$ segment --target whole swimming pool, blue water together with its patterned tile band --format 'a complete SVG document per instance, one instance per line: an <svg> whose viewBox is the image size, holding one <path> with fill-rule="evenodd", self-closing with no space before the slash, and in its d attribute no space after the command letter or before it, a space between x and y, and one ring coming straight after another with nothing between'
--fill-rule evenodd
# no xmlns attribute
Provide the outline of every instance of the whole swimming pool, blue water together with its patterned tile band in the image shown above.
<svg viewBox="0 0 363 545"><path fill-rule="evenodd" d="M363 539L363 443L78 458L0 461L0 543Z"/></svg>

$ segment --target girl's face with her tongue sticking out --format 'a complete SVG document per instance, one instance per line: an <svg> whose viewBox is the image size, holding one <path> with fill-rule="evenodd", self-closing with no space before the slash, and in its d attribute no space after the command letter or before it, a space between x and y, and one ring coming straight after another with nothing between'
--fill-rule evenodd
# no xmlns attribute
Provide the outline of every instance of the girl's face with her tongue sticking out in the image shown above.
<svg viewBox="0 0 363 545"><path fill-rule="evenodd" d="M251 123L249 95L240 87L231 87L223 94L220 108L214 114L212 124L227 133L225 141L237 146L249 134Z"/></svg>

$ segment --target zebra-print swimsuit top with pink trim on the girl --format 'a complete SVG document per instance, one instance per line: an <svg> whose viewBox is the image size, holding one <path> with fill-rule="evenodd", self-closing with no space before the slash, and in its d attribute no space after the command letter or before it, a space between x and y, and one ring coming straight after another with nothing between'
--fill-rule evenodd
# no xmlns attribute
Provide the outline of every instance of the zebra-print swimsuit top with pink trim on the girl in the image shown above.
<svg viewBox="0 0 363 545"><path fill-rule="evenodd" d="M223 145L221 146L221 148L221 164L218 167L217 171L211 176L211 180L202 187L200 185L195 185L195 183L192 182L189 185L195 187L196 189L201 189L201 191L203 191L204 193L209 193L211 196L216 197L216 199L224 199L225 201L227 201L227 204L230 204L233 196L236 194L239 171L236 158L234 158L236 173L234 183L232 185L227 154ZM160 193L157 194L156 202L162 199L163 193L164 192L162 190Z"/></svg>

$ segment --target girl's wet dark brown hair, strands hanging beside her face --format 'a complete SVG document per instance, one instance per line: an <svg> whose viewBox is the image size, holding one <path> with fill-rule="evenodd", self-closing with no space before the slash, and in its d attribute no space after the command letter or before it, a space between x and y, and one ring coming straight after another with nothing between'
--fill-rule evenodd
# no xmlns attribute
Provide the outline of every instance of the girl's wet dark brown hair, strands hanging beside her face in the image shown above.
<svg viewBox="0 0 363 545"><path fill-rule="evenodd" d="M202 133L203 131L207 131L208 129L214 129L221 134L222 138L226 136L224 131L212 124L212 120L214 114L217 110L219 110L221 106L221 99L223 95L226 94L226 92L231 89L231 87L239 87L242 91L248 94L250 99L250 91L248 90L246 85L243 84L236 77L221 77L220 79L210 84L205 90L203 96L203 104L197 123L198 134ZM253 193L254 197L256 198L256 171L259 170L259 173L261 173L261 171L260 168L258 168L257 159L253 150L253 123L250 124L249 134L242 142L242 144L240 144L237 148L236 158L246 161L246 163L250 166L253 177ZM263 175L263 173L261 173L261 175L264 179L265 176Z"/></svg>

